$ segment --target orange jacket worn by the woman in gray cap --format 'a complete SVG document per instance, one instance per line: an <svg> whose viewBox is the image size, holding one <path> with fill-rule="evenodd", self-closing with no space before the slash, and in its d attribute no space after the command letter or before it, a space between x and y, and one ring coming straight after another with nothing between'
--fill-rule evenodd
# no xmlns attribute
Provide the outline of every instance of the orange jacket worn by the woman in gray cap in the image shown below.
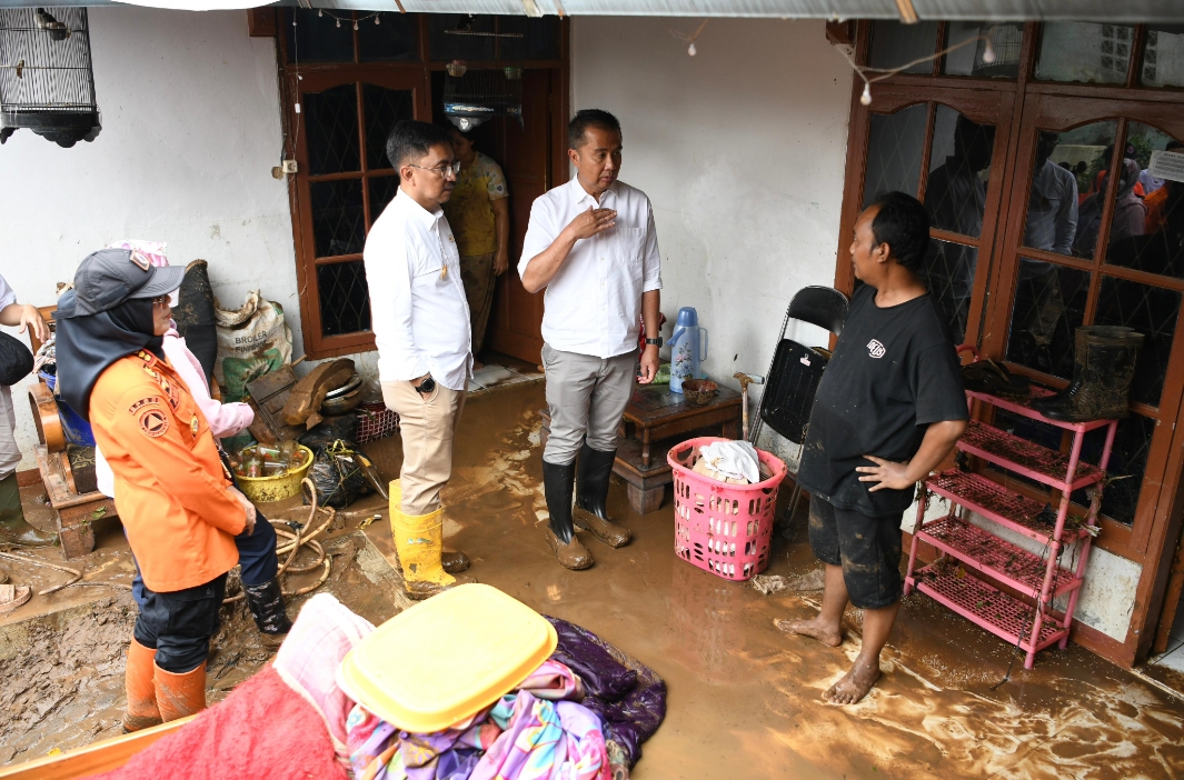
<svg viewBox="0 0 1184 780"><path fill-rule="evenodd" d="M144 584L168 593L233 568L246 514L173 367L147 350L111 363L91 392L90 423Z"/></svg>

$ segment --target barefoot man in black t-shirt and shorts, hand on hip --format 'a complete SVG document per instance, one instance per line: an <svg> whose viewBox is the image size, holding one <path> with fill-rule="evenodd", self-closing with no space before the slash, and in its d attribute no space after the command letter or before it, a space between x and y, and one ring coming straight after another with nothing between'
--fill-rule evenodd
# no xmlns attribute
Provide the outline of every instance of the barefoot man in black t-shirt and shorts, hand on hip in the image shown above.
<svg viewBox="0 0 1184 780"><path fill-rule="evenodd" d="M914 488L966 430L954 344L919 273L929 243L925 207L894 192L860 214L851 263L863 285L826 365L802 451L810 547L826 565L822 611L783 631L842 644L848 600L863 610L863 646L824 697L854 704L880 678L903 581L901 516Z"/></svg>

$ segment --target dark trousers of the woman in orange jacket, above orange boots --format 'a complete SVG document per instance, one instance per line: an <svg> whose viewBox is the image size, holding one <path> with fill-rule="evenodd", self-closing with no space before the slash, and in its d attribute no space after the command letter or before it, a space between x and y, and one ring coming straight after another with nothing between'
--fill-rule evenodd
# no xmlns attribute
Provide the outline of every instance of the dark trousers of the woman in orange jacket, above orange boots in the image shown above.
<svg viewBox="0 0 1184 780"><path fill-rule="evenodd" d="M193 671L210 655L210 638L220 625L226 575L184 591L156 593L143 587L136 618L136 642L156 651L156 665L174 675Z"/></svg>

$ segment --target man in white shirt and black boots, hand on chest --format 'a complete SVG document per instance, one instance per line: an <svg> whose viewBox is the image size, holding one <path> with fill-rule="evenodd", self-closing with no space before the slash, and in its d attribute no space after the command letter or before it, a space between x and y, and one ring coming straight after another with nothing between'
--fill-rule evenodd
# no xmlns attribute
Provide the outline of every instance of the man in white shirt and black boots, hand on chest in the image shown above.
<svg viewBox="0 0 1184 780"><path fill-rule="evenodd" d="M620 123L607 111L584 110L568 124L567 137L575 178L534 201L519 273L529 292L547 290L547 543L560 565L585 569L592 555L573 523L610 547L628 544L631 537L628 528L609 518L609 477L617 457L617 426L633 386L652 382L657 374L662 276L650 200L617 180ZM646 333L641 379L639 314Z"/></svg>

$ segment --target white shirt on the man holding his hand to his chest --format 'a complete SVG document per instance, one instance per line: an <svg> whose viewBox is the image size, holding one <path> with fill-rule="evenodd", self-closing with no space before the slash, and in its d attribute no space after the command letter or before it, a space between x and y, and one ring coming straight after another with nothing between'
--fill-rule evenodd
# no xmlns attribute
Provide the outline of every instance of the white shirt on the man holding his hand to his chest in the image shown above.
<svg viewBox="0 0 1184 780"><path fill-rule="evenodd" d="M616 226L575 241L543 297L542 337L553 349L614 357L637 349L642 295L662 289L654 207L641 189L614 181L598 204L572 179L535 199L519 275L588 208L612 208Z"/></svg>

